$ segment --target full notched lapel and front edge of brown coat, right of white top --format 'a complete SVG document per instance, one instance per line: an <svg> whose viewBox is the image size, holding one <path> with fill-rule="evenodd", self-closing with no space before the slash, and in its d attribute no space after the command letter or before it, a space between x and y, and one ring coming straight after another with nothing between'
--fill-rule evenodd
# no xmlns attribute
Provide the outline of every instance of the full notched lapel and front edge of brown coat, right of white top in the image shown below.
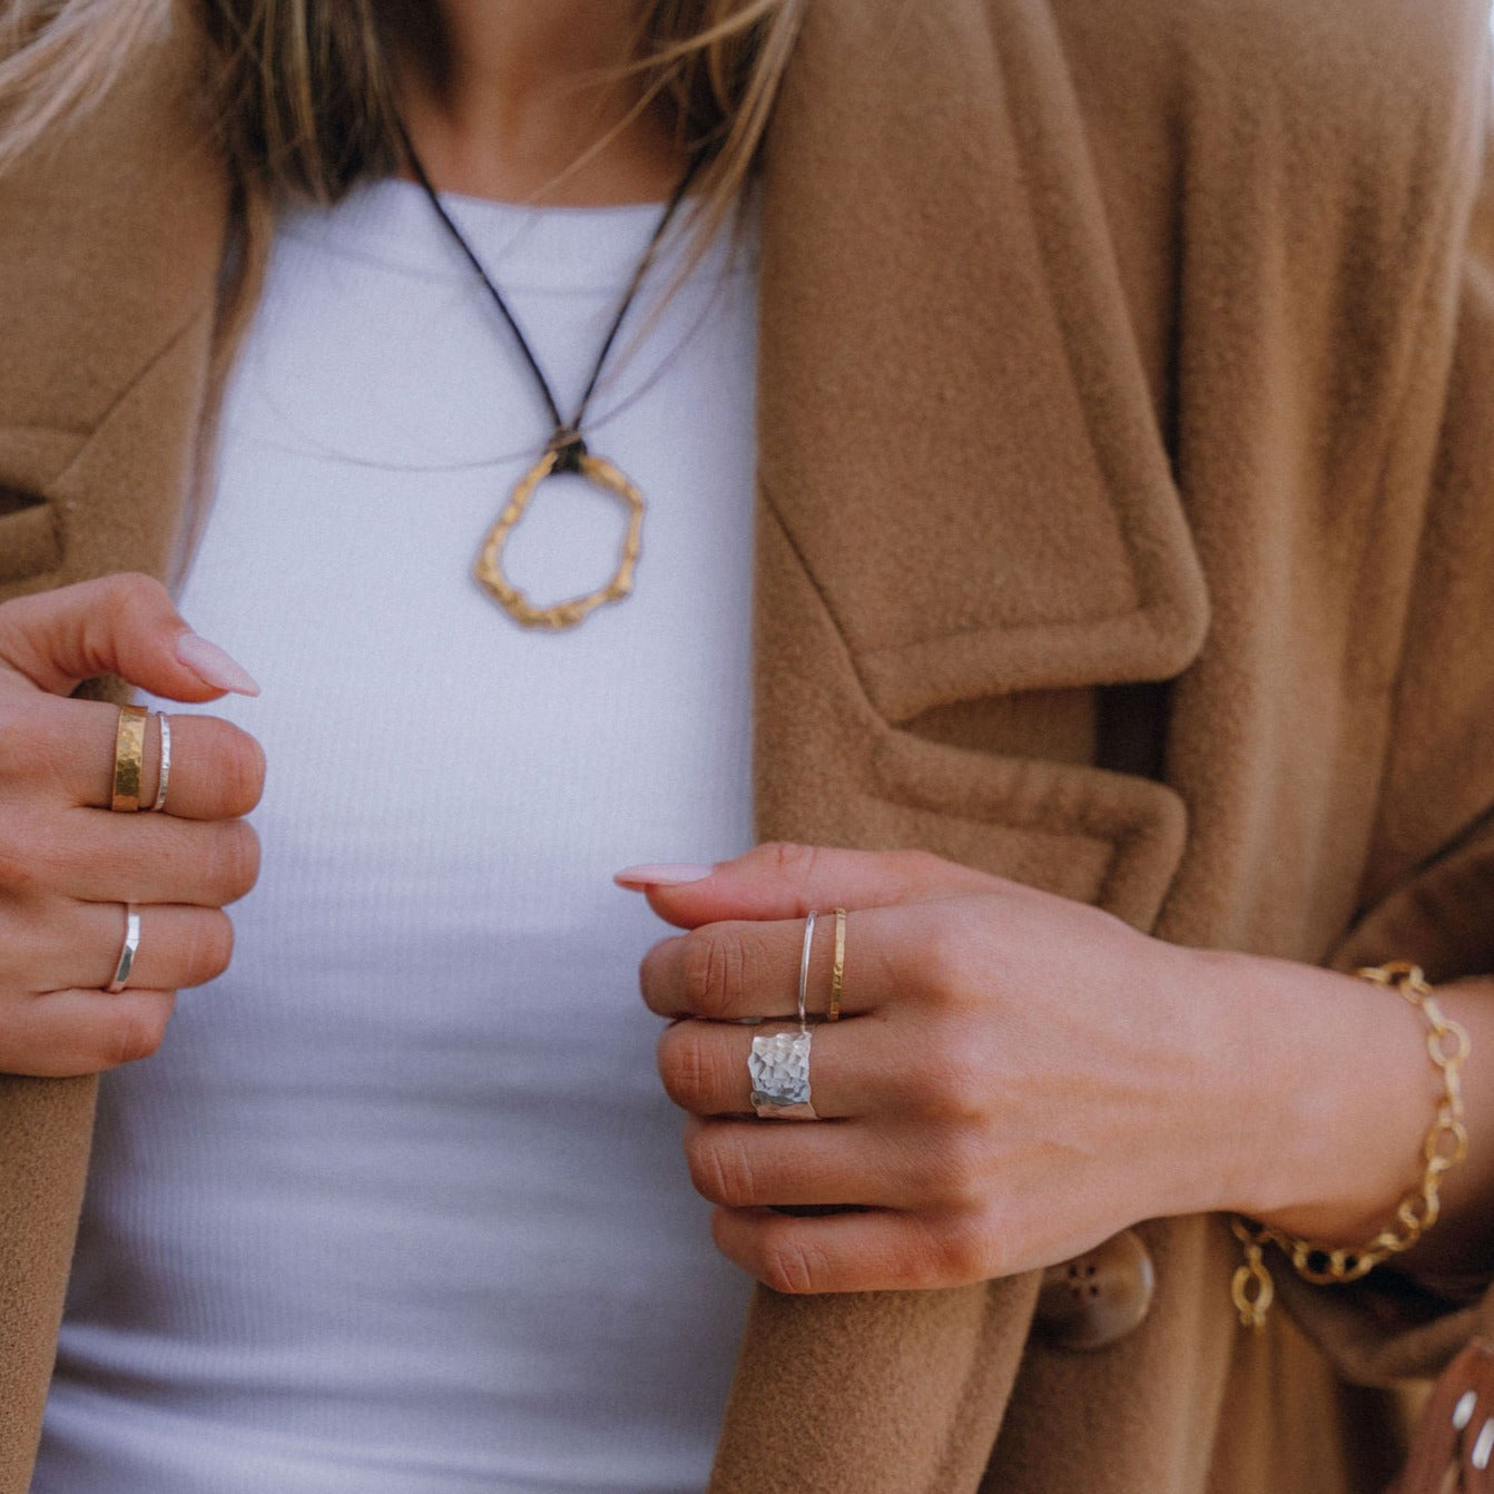
<svg viewBox="0 0 1494 1494"><path fill-rule="evenodd" d="M808 7L760 294L760 838L925 846L1147 925L1171 790L899 729L1170 678L1207 626L1044 4ZM759 1291L714 1494L974 1490L1035 1294Z"/></svg>

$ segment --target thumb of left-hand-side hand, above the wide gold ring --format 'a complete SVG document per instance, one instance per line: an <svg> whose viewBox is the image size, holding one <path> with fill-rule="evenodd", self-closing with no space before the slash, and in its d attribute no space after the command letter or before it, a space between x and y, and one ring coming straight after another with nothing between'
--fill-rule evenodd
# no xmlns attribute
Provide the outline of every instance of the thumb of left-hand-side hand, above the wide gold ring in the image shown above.
<svg viewBox="0 0 1494 1494"><path fill-rule="evenodd" d="M4 669L54 695L70 695L100 674L117 674L170 701L260 693L233 659L182 622L160 581L133 572L79 581L0 607Z"/></svg>

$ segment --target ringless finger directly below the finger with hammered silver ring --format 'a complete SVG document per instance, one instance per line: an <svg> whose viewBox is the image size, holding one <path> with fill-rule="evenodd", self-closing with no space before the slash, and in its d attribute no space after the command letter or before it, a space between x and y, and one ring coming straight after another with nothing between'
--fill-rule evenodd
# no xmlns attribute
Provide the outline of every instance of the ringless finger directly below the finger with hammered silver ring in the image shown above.
<svg viewBox="0 0 1494 1494"><path fill-rule="evenodd" d="M684 1155L695 1191L728 1209L896 1206L905 1180L856 1122L702 1120L690 1116Z"/></svg>

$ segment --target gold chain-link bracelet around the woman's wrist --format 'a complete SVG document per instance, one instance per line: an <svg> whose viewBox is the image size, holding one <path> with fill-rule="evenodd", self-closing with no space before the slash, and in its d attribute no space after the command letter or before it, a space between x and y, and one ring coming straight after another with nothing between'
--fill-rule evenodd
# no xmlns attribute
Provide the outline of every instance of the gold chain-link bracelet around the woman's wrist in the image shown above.
<svg viewBox="0 0 1494 1494"><path fill-rule="evenodd" d="M1270 1225L1237 1216L1231 1224L1236 1239L1245 1249L1245 1264L1234 1273L1230 1294L1240 1313L1240 1322L1249 1328L1259 1328L1265 1322L1265 1313L1276 1295L1271 1273L1265 1267L1267 1245L1277 1246L1292 1262L1297 1274L1315 1285L1357 1282L1382 1261L1409 1250L1437 1222L1437 1215L1442 1212L1439 1200L1442 1174L1449 1167L1457 1167L1469 1152L1460 1077L1463 1061L1469 1056L1469 1034L1442 1014L1437 998L1418 965L1395 961L1391 965L1357 970L1355 974L1373 980L1377 986L1397 991L1427 1019L1427 1055L1442 1074L1442 1100L1437 1104L1437 1118L1421 1147L1425 1171L1421 1182L1401 1198L1394 1219L1369 1245L1358 1249L1313 1245L1285 1230L1273 1230Z"/></svg>

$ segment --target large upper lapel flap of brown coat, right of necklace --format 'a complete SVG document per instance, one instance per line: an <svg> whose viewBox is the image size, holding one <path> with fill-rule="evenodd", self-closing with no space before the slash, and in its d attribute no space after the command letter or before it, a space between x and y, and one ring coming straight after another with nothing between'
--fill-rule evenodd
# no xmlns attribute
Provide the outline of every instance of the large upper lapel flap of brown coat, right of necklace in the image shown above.
<svg viewBox="0 0 1494 1494"><path fill-rule="evenodd" d="M1203 574L1041 0L808 7L762 297L763 493L878 714L1198 653Z"/></svg>

